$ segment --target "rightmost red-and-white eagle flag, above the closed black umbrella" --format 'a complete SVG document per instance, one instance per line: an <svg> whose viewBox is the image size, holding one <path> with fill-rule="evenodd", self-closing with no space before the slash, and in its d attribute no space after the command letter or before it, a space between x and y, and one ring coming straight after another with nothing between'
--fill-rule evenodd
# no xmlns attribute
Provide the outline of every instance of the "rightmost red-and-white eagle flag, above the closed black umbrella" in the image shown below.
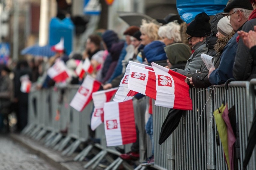
<svg viewBox="0 0 256 170"><path fill-rule="evenodd" d="M186 76L151 63L155 71L156 102L155 105L179 110L192 110L192 100Z"/></svg>

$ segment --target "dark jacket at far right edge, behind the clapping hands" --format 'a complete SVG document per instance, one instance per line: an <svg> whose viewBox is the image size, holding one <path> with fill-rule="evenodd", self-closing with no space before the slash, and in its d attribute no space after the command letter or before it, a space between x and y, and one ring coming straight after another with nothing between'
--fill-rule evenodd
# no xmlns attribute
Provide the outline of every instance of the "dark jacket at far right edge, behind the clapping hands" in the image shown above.
<svg viewBox="0 0 256 170"><path fill-rule="evenodd" d="M256 25L256 19L247 21L242 30L249 32ZM233 65L233 76L236 80L251 80L256 78L256 58L250 54L250 50L244 42L239 40L235 62Z"/></svg>

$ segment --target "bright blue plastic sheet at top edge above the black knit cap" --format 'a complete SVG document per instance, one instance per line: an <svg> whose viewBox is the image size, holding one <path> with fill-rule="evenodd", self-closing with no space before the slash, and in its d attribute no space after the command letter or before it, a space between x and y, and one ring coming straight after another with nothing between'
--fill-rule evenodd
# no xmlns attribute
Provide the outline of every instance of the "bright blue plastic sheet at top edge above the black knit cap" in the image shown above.
<svg viewBox="0 0 256 170"><path fill-rule="evenodd" d="M177 0L177 10L181 19L190 23L197 14L205 12L209 16L223 12L228 0Z"/></svg>

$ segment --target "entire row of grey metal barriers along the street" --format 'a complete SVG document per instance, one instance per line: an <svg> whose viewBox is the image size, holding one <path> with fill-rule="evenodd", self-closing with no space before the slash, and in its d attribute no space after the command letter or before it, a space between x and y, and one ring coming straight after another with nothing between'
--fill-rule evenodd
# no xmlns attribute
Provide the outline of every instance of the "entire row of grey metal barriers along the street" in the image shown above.
<svg viewBox="0 0 256 170"><path fill-rule="evenodd" d="M78 86L72 86L61 93L59 90L45 89L31 92L29 94L29 125L23 133L40 139L46 133L45 138L51 142L48 146L62 151L71 138L75 139L71 145L62 152L72 154L78 145L89 138L90 115L93 110L91 102L82 113L77 112L69 106ZM216 139L217 128L213 118L213 111L222 102L228 104L228 108L235 105L236 122L238 122L240 160L239 169L242 169L242 161L247 146L247 136L255 113L256 79L251 82L235 81L224 86L212 86L208 89L190 89L190 97L193 102L193 110L186 111L180 123L172 135L162 144L158 145L159 134L163 121L169 108L153 106L153 129L154 129L154 167L157 169L227 169L224 162L223 148L220 139ZM62 102L58 102L62 94ZM151 155L151 141L145 134L145 110L147 110L149 98L134 100L135 119L140 131L140 162L145 160L145 155ZM56 110L60 111L60 118L55 120ZM65 138L60 135L61 130L68 128ZM48 133L50 132L50 133ZM63 138L61 140L61 138ZM107 152L116 153L114 148L106 147L104 126L96 129L96 138L101 139L101 145L97 145L102 152L85 167L93 165L95 168ZM216 140L220 145L217 145ZM60 142L59 142L60 141ZM148 146L147 146L148 145ZM81 155L74 160L82 160L92 149L92 145L85 148ZM129 151L130 145L124 147ZM117 153L118 154L118 153ZM247 169L255 169L256 155L252 154ZM117 159L111 164L116 168L123 163ZM107 169L111 169L108 167ZM127 168L129 169L129 168Z"/></svg>

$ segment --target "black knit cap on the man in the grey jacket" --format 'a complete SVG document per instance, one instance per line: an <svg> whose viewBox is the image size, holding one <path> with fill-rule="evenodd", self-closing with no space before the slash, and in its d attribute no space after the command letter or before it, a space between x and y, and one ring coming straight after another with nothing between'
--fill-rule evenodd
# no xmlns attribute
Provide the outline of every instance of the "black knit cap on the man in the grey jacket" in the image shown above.
<svg viewBox="0 0 256 170"><path fill-rule="evenodd" d="M205 37L211 33L210 17L205 13L199 13L187 26L186 33L193 37Z"/></svg>

